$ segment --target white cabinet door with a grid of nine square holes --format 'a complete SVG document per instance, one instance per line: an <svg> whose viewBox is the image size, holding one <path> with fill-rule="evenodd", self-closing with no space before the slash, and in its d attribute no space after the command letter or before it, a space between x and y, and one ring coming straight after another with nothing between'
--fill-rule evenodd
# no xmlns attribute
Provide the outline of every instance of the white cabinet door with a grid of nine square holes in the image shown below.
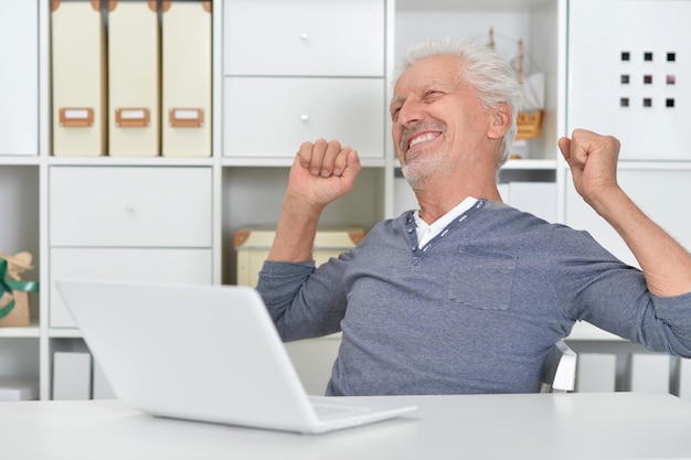
<svg viewBox="0 0 691 460"><path fill-rule="evenodd" d="M621 159L689 160L691 2L568 2L567 130L621 140Z"/></svg>

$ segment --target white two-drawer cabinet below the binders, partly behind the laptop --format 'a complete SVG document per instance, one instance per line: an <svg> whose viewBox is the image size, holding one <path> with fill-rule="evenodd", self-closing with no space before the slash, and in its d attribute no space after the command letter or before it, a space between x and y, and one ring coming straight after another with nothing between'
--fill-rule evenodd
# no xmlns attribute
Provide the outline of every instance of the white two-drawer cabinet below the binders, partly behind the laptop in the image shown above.
<svg viewBox="0 0 691 460"><path fill-rule="evenodd" d="M50 327L60 278L213 282L210 167L50 169Z"/></svg>

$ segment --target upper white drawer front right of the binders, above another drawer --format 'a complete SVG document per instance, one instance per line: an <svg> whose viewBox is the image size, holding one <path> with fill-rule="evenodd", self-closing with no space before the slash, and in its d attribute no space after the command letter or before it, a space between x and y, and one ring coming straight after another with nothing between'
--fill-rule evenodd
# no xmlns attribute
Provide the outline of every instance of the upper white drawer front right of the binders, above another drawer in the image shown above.
<svg viewBox="0 0 691 460"><path fill-rule="evenodd" d="M384 9L384 0L226 0L225 74L381 77Z"/></svg>

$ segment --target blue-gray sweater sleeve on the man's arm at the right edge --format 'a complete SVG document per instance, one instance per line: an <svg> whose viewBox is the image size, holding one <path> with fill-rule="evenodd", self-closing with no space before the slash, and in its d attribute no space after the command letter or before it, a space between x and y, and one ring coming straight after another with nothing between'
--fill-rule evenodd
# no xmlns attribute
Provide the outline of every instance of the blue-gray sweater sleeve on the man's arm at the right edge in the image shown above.
<svg viewBox="0 0 691 460"><path fill-rule="evenodd" d="M653 296L642 271L617 259L587 232L555 227L551 253L562 307L574 320L651 351L691 357L691 293Z"/></svg>

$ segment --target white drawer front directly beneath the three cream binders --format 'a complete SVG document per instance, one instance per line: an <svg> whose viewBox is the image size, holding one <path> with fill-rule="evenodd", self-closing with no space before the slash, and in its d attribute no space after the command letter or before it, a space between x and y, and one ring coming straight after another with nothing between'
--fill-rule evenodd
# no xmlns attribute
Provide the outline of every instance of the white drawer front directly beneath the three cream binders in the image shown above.
<svg viewBox="0 0 691 460"><path fill-rule="evenodd" d="M52 167L50 188L51 246L211 246L211 168Z"/></svg>

